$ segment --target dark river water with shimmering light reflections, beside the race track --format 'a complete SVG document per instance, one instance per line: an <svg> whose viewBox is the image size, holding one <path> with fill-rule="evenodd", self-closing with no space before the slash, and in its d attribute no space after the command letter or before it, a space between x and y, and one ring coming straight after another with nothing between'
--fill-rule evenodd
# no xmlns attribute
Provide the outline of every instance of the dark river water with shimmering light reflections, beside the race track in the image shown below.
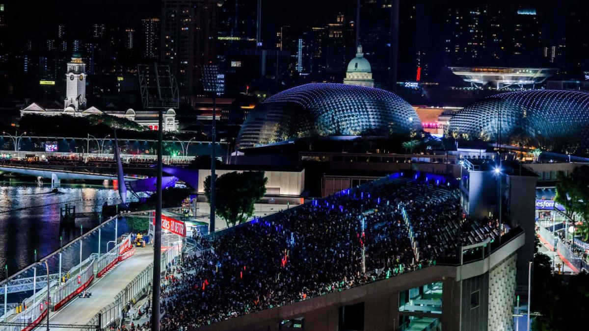
<svg viewBox="0 0 589 331"><path fill-rule="evenodd" d="M61 224L59 208L68 202L79 213L100 211L105 201L115 201L117 191L104 186L63 185L58 193L51 186L29 183L1 183L0 186L0 266L8 264L8 274L18 272L37 259L98 225L98 217L76 219ZM0 274L0 279L5 273Z"/></svg>

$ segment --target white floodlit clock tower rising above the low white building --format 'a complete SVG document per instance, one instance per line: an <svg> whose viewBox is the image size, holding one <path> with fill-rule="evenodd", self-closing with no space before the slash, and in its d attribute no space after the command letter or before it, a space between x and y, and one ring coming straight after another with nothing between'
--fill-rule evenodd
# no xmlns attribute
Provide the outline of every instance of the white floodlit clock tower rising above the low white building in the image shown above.
<svg viewBox="0 0 589 331"><path fill-rule="evenodd" d="M72 55L65 74L65 106L75 110L86 108L86 64L78 53Z"/></svg>

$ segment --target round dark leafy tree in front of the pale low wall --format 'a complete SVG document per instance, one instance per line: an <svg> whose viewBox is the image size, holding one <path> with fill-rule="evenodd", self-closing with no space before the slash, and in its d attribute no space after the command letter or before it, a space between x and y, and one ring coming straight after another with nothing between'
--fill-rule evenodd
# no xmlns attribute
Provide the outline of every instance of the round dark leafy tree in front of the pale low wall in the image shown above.
<svg viewBox="0 0 589 331"><path fill-rule="evenodd" d="M247 221L254 213L254 203L266 194L264 171L233 171L215 181L216 214L227 222L227 226ZM204 180L204 195L211 197L211 176Z"/></svg>

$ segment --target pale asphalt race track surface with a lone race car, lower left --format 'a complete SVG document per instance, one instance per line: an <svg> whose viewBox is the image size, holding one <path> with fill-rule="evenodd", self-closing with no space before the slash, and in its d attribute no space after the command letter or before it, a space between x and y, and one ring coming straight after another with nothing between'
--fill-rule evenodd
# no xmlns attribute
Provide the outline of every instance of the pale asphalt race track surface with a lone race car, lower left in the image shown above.
<svg viewBox="0 0 589 331"><path fill-rule="evenodd" d="M90 322L92 317L111 304L114 297L151 262L153 262L152 247L138 247L133 257L117 264L110 272L94 280L88 287L88 291L92 292L91 297L76 297L57 312L51 313L49 323L86 324ZM45 327L38 327L37 330L45 330Z"/></svg>

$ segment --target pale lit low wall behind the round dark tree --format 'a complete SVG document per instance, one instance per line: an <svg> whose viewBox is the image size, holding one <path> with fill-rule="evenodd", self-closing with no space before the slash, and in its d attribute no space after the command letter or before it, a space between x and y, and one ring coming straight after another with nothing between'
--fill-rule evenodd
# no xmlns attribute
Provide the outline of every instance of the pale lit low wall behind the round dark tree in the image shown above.
<svg viewBox="0 0 589 331"><path fill-rule="evenodd" d="M236 170L217 170L217 177ZM263 171L263 168L260 168ZM243 171L238 171L243 172ZM268 181L266 195L300 196L305 191L305 170L301 171L264 171ZM198 170L198 194L204 194L204 180L211 175L207 169Z"/></svg>

